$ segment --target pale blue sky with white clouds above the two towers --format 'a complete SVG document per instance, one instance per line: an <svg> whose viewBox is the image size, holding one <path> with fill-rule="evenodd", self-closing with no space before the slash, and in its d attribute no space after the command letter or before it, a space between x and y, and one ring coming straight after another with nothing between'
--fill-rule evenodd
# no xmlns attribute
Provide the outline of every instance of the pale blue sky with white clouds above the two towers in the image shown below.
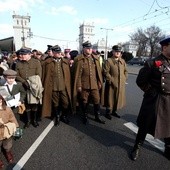
<svg viewBox="0 0 170 170"><path fill-rule="evenodd" d="M83 22L95 26L96 42L106 37L100 28L113 29L108 31L111 46L151 25L170 34L170 0L0 0L0 39L13 36L14 11L31 16L31 45L41 51L47 44L76 48Z"/></svg>

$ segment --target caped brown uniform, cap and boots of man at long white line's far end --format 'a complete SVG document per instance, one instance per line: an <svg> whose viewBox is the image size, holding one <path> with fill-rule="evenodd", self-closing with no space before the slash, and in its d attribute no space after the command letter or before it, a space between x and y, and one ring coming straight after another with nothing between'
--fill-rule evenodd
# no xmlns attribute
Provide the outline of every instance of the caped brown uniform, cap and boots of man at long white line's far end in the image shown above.
<svg viewBox="0 0 170 170"><path fill-rule="evenodd" d="M61 48L52 47L54 53L60 57L48 58L43 63L42 83L44 86L44 98L42 116L49 117L52 113L52 103L55 112L55 125L59 125L60 119L69 123L68 109L71 109L71 75L69 61L61 57ZM70 108L69 108L70 106ZM60 111L62 110L62 115Z"/></svg>

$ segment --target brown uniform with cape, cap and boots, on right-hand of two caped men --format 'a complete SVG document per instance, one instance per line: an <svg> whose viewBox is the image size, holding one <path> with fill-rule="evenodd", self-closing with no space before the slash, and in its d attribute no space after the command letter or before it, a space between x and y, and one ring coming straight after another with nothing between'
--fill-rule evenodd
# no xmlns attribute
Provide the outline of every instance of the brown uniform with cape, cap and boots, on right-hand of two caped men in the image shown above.
<svg viewBox="0 0 170 170"><path fill-rule="evenodd" d="M83 48L92 48L90 42L85 42ZM89 97L94 104L95 119L104 123L100 119L100 90L103 85L102 70L99 63L99 58L96 55L81 54L75 58L74 64L74 107L77 104L77 96L80 96L79 103L83 111L83 123L87 122L87 104ZM78 92L78 89L82 90Z"/></svg>

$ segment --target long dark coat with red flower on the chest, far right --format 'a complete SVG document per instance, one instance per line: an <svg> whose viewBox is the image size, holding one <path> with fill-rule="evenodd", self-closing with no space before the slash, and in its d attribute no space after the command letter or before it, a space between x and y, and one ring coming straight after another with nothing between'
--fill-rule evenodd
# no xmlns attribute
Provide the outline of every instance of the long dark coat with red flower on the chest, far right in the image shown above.
<svg viewBox="0 0 170 170"><path fill-rule="evenodd" d="M155 138L170 137L170 64L162 54L147 61L137 85L144 91L137 125Z"/></svg>

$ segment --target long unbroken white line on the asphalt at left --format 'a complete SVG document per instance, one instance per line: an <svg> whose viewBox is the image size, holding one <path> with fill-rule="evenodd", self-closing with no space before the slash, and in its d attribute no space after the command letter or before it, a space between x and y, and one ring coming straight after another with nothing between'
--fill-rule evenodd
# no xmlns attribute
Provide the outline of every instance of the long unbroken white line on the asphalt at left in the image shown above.
<svg viewBox="0 0 170 170"><path fill-rule="evenodd" d="M54 121L51 121L49 125L45 128L45 130L40 134L40 136L36 139L36 141L31 145L31 147L27 150L27 152L22 156L22 158L18 161L18 163L14 166L13 170L21 170L40 143L43 141L45 136L49 133L51 128L54 126Z"/></svg>

